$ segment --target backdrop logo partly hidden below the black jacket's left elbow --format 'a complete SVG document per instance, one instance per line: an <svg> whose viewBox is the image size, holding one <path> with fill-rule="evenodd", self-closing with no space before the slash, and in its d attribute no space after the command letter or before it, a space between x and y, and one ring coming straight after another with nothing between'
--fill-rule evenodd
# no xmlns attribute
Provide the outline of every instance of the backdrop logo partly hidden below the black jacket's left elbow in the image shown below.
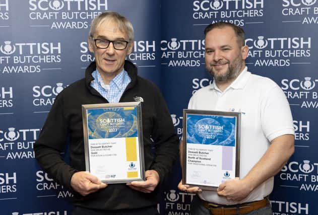
<svg viewBox="0 0 318 215"><path fill-rule="evenodd" d="M36 172L37 196L41 198L71 198L72 192L55 182L42 170Z"/></svg>

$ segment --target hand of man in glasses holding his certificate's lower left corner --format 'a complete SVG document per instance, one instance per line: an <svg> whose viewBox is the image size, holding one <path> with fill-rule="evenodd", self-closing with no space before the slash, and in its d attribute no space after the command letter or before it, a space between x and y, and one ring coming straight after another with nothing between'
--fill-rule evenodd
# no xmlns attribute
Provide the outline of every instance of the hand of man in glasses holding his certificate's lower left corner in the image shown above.
<svg viewBox="0 0 318 215"><path fill-rule="evenodd" d="M96 192L99 189L107 187L107 184L101 182L96 176L89 172L77 172L71 178L72 188L83 196Z"/></svg>

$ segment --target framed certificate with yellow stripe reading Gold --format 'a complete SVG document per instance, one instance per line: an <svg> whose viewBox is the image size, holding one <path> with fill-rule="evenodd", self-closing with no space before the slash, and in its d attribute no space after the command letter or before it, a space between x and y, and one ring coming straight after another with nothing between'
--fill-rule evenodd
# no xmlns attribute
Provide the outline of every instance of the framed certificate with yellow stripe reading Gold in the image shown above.
<svg viewBox="0 0 318 215"><path fill-rule="evenodd" d="M104 183L145 180L140 102L82 105L86 171Z"/></svg>

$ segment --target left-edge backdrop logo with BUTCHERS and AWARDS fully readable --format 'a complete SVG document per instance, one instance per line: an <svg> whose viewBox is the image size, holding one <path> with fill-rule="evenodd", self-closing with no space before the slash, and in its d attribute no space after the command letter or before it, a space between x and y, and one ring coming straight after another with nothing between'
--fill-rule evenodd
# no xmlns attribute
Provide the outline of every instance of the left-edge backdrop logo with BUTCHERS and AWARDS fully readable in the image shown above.
<svg viewBox="0 0 318 215"><path fill-rule="evenodd" d="M60 54L60 42L0 41L0 74L58 70Z"/></svg>

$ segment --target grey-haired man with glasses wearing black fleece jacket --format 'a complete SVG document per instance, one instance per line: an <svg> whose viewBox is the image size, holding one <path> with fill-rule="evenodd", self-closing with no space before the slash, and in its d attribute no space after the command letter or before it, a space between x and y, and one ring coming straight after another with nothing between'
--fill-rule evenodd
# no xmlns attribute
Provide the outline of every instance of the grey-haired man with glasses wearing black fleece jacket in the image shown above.
<svg viewBox="0 0 318 215"><path fill-rule="evenodd" d="M159 185L178 155L178 137L166 103L159 89L137 76L137 67L125 60L134 45L128 19L115 12L100 14L92 22L88 44L95 61L84 79L56 97L34 145L35 157L51 177L73 191L74 215L157 214ZM142 102L146 181L104 184L85 172L81 105L134 101ZM68 137L71 165L60 157Z"/></svg>

